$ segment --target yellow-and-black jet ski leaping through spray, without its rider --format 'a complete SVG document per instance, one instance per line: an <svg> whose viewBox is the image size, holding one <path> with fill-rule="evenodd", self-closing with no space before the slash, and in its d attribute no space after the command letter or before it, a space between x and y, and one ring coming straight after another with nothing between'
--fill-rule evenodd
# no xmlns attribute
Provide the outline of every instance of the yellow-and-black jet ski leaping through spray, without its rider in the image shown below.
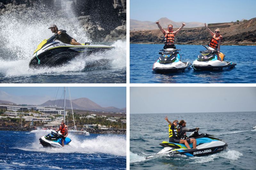
<svg viewBox="0 0 256 170"><path fill-rule="evenodd" d="M84 56L88 56L92 53L104 53L114 48L106 45L91 45L91 43L82 45L60 43L54 41L58 36L59 34L54 34L37 46L33 58L29 62L30 68L60 66L66 64L81 53Z"/></svg>

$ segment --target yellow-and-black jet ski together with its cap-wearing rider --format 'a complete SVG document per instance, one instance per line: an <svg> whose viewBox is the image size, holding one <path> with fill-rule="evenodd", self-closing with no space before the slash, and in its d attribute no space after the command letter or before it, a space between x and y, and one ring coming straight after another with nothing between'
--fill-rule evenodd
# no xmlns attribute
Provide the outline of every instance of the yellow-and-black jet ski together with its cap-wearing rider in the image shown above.
<svg viewBox="0 0 256 170"><path fill-rule="evenodd" d="M30 68L58 67L67 64L76 56L87 57L94 53L99 53L101 56L102 53L114 48L106 45L91 45L89 42L80 44L76 42L76 39L70 37L65 30L58 30L56 25L51 25L49 29L55 34L49 39L44 39L37 46L33 58L29 62ZM60 40L61 43L55 39ZM106 65L109 62L109 59L105 58L95 59L96 65Z"/></svg>

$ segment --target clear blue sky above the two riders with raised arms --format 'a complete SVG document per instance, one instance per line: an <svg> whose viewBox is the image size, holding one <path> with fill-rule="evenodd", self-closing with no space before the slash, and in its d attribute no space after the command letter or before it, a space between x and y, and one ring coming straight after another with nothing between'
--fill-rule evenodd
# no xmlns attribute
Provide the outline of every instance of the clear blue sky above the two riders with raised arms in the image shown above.
<svg viewBox="0 0 256 170"><path fill-rule="evenodd" d="M130 19L222 23L255 18L255 8L255 0L130 0Z"/></svg>

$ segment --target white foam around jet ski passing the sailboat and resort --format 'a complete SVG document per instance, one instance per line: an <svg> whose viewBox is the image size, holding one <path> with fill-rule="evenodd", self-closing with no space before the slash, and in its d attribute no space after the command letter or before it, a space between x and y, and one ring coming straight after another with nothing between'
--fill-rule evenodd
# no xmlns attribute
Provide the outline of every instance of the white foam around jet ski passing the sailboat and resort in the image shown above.
<svg viewBox="0 0 256 170"><path fill-rule="evenodd" d="M42 132L43 133L43 132ZM44 135L37 133L35 141L28 147L18 148L26 151L40 151L49 153L106 153L126 156L126 138L119 135L99 135L96 138L80 141L75 134L68 134L72 140L63 148L44 148L38 139Z"/></svg>

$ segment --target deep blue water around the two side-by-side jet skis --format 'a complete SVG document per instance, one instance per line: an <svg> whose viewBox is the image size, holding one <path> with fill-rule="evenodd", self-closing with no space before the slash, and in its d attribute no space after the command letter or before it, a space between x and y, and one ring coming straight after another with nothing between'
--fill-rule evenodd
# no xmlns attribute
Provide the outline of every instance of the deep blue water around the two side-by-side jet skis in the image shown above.
<svg viewBox="0 0 256 170"><path fill-rule="evenodd" d="M256 46L221 46L226 61L237 65L223 72L195 72L193 68L184 73L155 74L152 67L160 56L161 44L130 44L130 83L256 83ZM193 63L201 45L176 45L181 49L181 61ZM245 56L245 57L244 57Z"/></svg>

